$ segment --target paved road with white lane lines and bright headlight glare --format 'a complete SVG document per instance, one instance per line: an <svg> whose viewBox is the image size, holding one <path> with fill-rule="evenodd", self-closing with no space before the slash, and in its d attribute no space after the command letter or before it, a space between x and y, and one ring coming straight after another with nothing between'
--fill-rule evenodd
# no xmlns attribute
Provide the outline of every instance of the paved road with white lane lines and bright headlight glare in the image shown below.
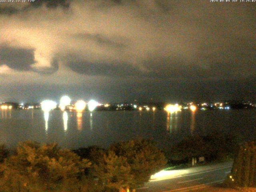
<svg viewBox="0 0 256 192"><path fill-rule="evenodd" d="M232 162L198 166L194 168L162 171L137 192L184 192L221 183L230 173Z"/></svg>

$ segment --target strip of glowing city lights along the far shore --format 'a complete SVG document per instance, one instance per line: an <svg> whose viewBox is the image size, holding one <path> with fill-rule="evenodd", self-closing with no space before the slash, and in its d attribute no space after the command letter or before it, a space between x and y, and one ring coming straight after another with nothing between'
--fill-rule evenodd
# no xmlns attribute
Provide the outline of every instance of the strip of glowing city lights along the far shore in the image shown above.
<svg viewBox="0 0 256 192"><path fill-rule="evenodd" d="M238 103L240 105L240 103ZM11 110L11 109L40 109L44 111L50 111L52 109L58 108L62 111L65 110L76 110L79 112L84 111L85 109L92 112L95 110L97 106L100 106L98 110L138 110L138 111L155 111L155 110L166 110L168 113L178 112L180 110L191 110L195 112L196 110L212 110L212 109L220 109L220 110L230 110L233 108L232 104L228 102L213 102L213 103L182 103L182 104L167 104L165 107L160 104L158 108L150 105L139 105L138 103L122 103L122 104L99 104L95 100L90 100L89 102L85 102L83 100L78 100L71 104L71 99L68 96L63 96L60 98L59 105L52 100L44 100L41 104L24 104L24 103L13 103L13 102L0 102L1 110ZM236 104L234 105L236 108ZM252 104L251 102L241 103L241 108L256 108L256 104Z"/></svg>

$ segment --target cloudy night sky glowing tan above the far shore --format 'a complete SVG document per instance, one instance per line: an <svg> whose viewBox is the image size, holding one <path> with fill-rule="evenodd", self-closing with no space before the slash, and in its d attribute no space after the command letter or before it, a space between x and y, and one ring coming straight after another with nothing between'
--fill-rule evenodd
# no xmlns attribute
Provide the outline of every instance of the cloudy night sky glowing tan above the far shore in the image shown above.
<svg viewBox="0 0 256 192"><path fill-rule="evenodd" d="M256 2L0 2L0 101L64 94L255 101Z"/></svg>

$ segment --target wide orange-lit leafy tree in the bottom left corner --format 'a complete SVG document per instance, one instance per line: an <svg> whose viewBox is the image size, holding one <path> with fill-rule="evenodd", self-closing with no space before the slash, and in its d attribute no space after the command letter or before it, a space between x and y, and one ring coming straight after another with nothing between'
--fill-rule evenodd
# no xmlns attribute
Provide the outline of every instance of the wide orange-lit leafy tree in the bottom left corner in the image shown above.
<svg viewBox="0 0 256 192"><path fill-rule="evenodd" d="M21 142L16 154L10 156L1 169L1 188L4 191L77 191L84 169L90 166L86 159L57 144L40 145Z"/></svg>

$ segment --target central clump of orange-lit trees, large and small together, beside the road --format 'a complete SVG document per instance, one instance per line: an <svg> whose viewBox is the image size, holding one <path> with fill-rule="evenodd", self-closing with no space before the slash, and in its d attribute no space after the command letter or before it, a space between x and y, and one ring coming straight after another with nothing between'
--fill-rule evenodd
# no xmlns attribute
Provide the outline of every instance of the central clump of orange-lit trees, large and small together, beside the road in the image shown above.
<svg viewBox="0 0 256 192"><path fill-rule="evenodd" d="M99 184L108 190L143 185L166 165L164 154L145 139L117 142L108 150L92 146L74 152L92 162L89 175L98 178Z"/></svg>

